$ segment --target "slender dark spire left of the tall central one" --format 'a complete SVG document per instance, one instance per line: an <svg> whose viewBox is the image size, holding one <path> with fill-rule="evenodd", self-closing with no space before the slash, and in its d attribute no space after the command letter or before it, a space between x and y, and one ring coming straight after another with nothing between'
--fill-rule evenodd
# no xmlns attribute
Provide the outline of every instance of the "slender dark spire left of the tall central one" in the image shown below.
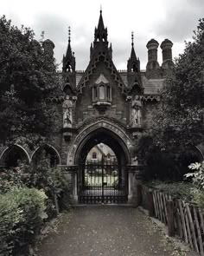
<svg viewBox="0 0 204 256"><path fill-rule="evenodd" d="M71 48L71 28L68 27L68 46L66 56L63 56L63 71L72 72L75 70L75 57Z"/></svg>

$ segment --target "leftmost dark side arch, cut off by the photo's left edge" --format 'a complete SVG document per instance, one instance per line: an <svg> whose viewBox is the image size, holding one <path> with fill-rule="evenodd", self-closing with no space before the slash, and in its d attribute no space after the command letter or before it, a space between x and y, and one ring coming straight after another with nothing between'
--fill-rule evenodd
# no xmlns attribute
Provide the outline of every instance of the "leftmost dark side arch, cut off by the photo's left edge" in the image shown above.
<svg viewBox="0 0 204 256"><path fill-rule="evenodd" d="M29 153L21 145L13 144L3 150L0 155L0 163L5 167L14 167L18 165L18 161L30 163Z"/></svg>

